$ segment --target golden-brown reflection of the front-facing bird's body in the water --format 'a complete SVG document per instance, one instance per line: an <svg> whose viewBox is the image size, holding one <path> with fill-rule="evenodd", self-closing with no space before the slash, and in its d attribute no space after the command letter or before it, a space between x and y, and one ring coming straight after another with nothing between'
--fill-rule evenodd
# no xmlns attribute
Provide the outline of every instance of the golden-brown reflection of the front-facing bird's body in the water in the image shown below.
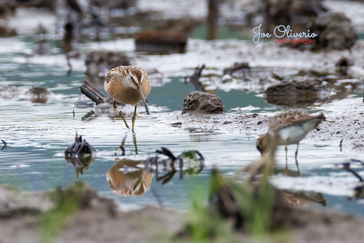
<svg viewBox="0 0 364 243"><path fill-rule="evenodd" d="M153 174L137 168L135 171L126 173L119 170L124 166L135 167L140 163L142 161L115 159L115 164L106 172L106 180L110 190L123 196L141 196L148 191Z"/></svg>

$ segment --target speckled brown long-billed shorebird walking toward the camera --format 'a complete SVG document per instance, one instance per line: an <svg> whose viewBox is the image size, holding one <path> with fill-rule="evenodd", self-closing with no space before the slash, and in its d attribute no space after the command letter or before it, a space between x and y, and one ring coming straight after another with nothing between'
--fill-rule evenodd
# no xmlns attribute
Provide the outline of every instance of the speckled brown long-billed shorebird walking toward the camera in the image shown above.
<svg viewBox="0 0 364 243"><path fill-rule="evenodd" d="M150 92L150 83L147 72L144 69L135 66L119 66L112 68L106 75L104 89L106 93L114 99L113 108L115 111L119 112L119 115L127 128L129 128L129 126L125 120L124 114L116 107L115 101L119 101L122 104L135 105L134 115L131 118L131 130L134 132L137 104L140 100L143 101L145 110L149 115L149 109L145 101L145 96Z"/></svg>

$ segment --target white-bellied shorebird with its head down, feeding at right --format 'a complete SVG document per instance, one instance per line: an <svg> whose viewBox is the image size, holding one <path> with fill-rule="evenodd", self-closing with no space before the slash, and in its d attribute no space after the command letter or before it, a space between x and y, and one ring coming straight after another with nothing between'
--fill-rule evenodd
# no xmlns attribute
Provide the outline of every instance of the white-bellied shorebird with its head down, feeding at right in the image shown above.
<svg viewBox="0 0 364 243"><path fill-rule="evenodd" d="M297 144L296 165L298 144L300 141L315 128L324 119L324 114L309 115L304 111L286 111L272 116L268 120L269 130L266 134L261 135L257 140L257 149L263 155L269 150L267 147L273 139L278 141L278 145L283 145L286 151L287 162L287 144Z"/></svg>

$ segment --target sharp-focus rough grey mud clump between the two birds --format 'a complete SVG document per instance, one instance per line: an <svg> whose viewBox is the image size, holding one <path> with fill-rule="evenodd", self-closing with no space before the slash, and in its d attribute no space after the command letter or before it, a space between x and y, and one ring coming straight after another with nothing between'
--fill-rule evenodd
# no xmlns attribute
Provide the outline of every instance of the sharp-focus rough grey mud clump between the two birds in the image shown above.
<svg viewBox="0 0 364 243"><path fill-rule="evenodd" d="M194 91L183 100L182 114L220 114L225 113L225 107L220 97L207 92Z"/></svg>

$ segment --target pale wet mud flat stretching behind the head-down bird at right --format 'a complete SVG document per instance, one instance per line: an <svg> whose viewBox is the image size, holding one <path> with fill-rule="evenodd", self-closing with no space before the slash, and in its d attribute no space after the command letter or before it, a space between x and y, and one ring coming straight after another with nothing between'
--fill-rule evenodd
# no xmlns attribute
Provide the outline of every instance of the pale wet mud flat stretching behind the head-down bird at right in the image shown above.
<svg viewBox="0 0 364 243"><path fill-rule="evenodd" d="M320 107L326 121L319 125L320 131L313 130L301 143L334 146L347 155L362 154L364 150L364 103L363 98L348 98L333 101ZM184 129L208 130L258 137L268 130L269 116L274 113L220 113L198 114L181 111L160 113L163 122Z"/></svg>

